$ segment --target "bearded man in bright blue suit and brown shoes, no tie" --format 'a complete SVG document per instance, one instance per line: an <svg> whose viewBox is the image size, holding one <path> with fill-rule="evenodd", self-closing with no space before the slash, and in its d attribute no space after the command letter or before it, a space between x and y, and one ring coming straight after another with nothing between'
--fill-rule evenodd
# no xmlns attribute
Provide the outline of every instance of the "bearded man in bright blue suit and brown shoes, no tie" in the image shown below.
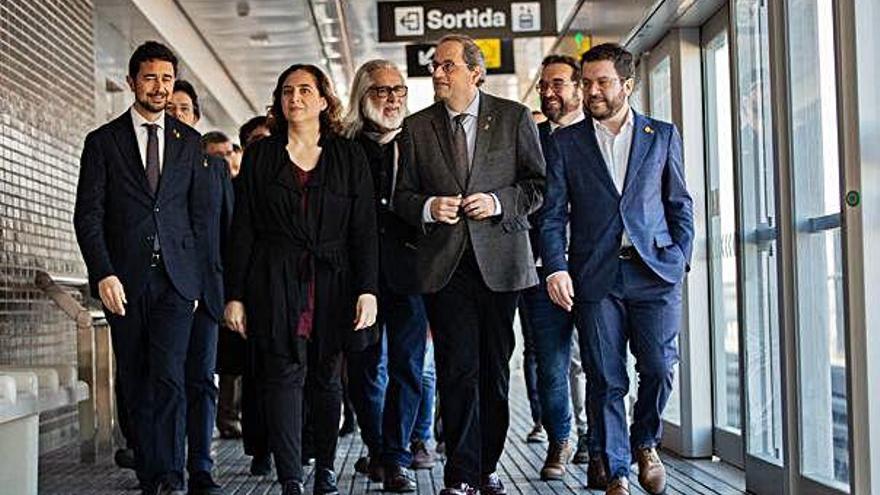
<svg viewBox="0 0 880 495"><path fill-rule="evenodd" d="M541 225L550 298L573 311L609 474L606 494L628 494L631 459L639 483L662 493L656 447L678 361L681 283L693 242L692 201L675 126L629 106L633 57L617 44L581 59L583 122L554 133ZM566 225L571 241L566 260ZM638 400L627 434L626 348L636 357Z"/></svg>

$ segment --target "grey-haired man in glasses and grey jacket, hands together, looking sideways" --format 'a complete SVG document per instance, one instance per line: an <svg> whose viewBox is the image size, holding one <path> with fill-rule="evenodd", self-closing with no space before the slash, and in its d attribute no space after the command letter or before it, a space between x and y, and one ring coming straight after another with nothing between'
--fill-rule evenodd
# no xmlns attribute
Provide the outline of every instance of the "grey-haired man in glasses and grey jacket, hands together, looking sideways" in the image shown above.
<svg viewBox="0 0 880 495"><path fill-rule="evenodd" d="M528 108L479 90L468 37L434 52L437 103L407 118L394 210L421 229L416 274L434 335L446 437L446 495L503 494L495 474L509 423L519 291L537 283L527 216L544 159Z"/></svg>

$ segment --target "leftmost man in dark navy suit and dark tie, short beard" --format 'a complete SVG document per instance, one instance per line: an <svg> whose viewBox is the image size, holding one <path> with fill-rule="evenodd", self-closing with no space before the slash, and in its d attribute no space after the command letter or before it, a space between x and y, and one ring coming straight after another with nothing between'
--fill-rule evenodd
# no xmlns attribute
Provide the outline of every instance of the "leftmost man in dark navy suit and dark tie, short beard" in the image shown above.
<svg viewBox="0 0 880 495"><path fill-rule="evenodd" d="M176 72L177 58L157 42L132 54L135 102L86 136L74 211L92 293L110 323L138 479L150 494L183 488L184 363L204 263L199 134L165 115Z"/></svg>

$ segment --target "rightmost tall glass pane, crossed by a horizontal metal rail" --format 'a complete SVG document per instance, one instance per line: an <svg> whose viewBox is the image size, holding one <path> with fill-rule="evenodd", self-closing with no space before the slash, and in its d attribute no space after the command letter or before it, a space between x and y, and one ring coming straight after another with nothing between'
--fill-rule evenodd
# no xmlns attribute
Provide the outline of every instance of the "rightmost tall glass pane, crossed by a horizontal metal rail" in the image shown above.
<svg viewBox="0 0 880 495"><path fill-rule="evenodd" d="M787 17L800 469L805 477L847 490L846 328L832 0L791 0Z"/></svg>

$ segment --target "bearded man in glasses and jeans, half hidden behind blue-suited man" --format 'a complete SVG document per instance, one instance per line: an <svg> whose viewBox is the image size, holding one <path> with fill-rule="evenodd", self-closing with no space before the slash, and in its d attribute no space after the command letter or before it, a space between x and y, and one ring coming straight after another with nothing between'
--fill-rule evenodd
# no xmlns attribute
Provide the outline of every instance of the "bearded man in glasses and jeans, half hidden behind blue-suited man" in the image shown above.
<svg viewBox="0 0 880 495"><path fill-rule="evenodd" d="M541 146L546 152L552 146L549 140L553 133L582 122L584 111L578 61L567 55L550 55L541 66L541 79L535 89L541 97L541 111L547 116L546 122L538 124ZM543 211L539 210L529 218L532 224L529 235L540 284L523 291L519 308L523 334L529 336L527 340L532 342L535 349L538 395L549 440L541 479L556 480L565 475L565 465L572 457L573 450L569 440L572 416L569 404L574 393L571 396L569 393L576 384L569 384L568 371L573 357L574 318L571 313L553 304L547 294L544 278L548 273L544 271L541 259L540 239ZM577 352L580 354L580 349ZM589 397L589 387L585 392ZM590 433L593 435L590 436ZM607 481L605 469L595 440L595 428L579 432L578 454L589 460L587 486L604 489Z"/></svg>

